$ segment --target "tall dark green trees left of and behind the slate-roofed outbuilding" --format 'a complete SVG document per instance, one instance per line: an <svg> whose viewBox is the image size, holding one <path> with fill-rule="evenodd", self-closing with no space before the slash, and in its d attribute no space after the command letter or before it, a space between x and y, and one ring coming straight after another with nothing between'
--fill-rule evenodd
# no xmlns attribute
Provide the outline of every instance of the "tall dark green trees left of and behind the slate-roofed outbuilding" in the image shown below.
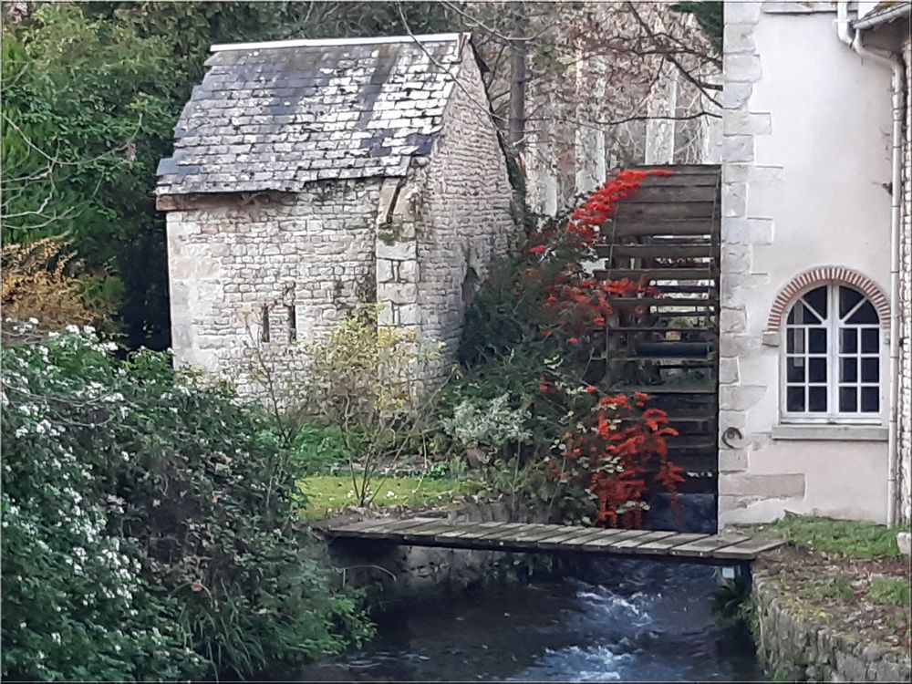
<svg viewBox="0 0 912 684"><path fill-rule="evenodd" d="M5 241L70 233L127 345L170 342L155 171L214 43L451 29L422 3L29 3L3 27ZM3 12L9 5L4 4Z"/></svg>

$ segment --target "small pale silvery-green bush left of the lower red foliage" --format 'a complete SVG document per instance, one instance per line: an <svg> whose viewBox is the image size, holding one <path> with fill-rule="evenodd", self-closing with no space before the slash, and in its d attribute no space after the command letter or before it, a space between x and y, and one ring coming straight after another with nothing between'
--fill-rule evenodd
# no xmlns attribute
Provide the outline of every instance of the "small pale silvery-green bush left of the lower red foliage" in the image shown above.
<svg viewBox="0 0 912 684"><path fill-rule="evenodd" d="M499 450L508 443L528 440L527 413L510 407L510 395L494 399L465 399L453 409L451 419L441 420L443 430L464 447Z"/></svg>

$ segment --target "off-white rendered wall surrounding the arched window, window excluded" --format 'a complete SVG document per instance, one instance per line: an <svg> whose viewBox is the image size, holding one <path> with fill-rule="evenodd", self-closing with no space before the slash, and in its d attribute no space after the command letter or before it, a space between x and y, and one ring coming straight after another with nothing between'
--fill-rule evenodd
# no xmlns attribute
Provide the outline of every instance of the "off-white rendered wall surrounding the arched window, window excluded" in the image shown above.
<svg viewBox="0 0 912 684"><path fill-rule="evenodd" d="M720 526L786 510L882 522L886 430L774 437L781 347L763 332L782 288L817 266L889 293L890 73L836 38L831 6L725 9L720 430L743 440L720 450ZM883 427L887 397L884 383Z"/></svg>

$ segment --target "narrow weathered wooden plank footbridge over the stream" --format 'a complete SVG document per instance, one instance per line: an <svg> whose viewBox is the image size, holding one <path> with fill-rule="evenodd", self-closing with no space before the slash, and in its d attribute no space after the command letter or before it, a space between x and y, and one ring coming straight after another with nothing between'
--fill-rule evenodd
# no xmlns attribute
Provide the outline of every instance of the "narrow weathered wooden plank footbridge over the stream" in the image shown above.
<svg viewBox="0 0 912 684"><path fill-rule="evenodd" d="M611 554L704 565L747 565L784 542L742 534L678 534L536 523L451 523L440 518L375 518L329 523L329 538L409 546L524 553Z"/></svg>

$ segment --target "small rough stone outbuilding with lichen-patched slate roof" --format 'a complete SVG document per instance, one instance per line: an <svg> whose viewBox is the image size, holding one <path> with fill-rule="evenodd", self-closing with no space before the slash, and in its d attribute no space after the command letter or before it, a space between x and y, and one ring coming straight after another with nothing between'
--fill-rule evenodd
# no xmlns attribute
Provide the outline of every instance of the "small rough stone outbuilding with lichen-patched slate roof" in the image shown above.
<svg viewBox="0 0 912 684"><path fill-rule="evenodd" d="M159 167L177 362L254 393L258 348L293 382L295 340L374 302L453 351L514 232L469 36L214 46L207 66Z"/></svg>

